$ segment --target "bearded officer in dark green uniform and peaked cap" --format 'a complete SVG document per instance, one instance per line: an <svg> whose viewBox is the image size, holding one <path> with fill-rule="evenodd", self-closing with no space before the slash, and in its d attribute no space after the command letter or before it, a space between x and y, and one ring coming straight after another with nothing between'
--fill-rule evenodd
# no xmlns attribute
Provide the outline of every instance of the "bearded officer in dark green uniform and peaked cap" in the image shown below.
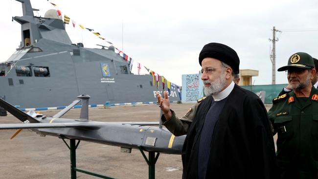
<svg viewBox="0 0 318 179"><path fill-rule="evenodd" d="M280 179L318 179L318 90L311 80L316 75L313 58L293 54L287 70L292 91L273 99L269 117L278 133L276 165Z"/></svg>

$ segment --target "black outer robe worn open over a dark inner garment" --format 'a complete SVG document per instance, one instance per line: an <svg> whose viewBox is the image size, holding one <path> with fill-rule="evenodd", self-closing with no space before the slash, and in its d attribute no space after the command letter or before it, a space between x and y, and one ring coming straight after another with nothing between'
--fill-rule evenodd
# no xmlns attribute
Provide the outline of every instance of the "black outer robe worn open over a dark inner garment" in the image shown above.
<svg viewBox="0 0 318 179"><path fill-rule="evenodd" d="M212 96L198 107L183 145L183 179L198 178L201 129ZM215 125L206 179L275 179L275 149L267 111L254 93L237 85Z"/></svg>

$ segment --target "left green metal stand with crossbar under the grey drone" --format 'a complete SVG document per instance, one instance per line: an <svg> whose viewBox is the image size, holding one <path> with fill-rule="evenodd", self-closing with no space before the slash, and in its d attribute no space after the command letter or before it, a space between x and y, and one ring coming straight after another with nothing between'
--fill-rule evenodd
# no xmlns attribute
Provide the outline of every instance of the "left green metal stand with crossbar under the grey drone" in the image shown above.
<svg viewBox="0 0 318 179"><path fill-rule="evenodd" d="M83 169L76 168L76 149L81 141L78 140L77 144L75 145L75 139L69 139L69 145L68 145L68 143L64 140L64 138L62 138L62 140L64 141L66 146L68 146L69 153L70 153L70 179L76 179L76 172L81 172L81 173L95 176L95 177L99 177L102 179L113 179L110 177L103 176L101 174L97 174L97 173L93 173L93 172L89 172L89 171L86 171Z"/></svg>

